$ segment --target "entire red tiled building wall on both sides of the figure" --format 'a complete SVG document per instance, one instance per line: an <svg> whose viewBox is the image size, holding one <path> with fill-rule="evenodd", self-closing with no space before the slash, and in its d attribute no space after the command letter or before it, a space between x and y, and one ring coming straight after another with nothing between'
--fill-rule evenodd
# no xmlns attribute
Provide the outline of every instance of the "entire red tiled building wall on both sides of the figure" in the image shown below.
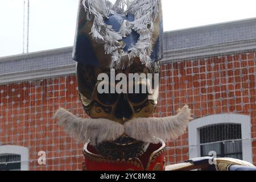
<svg viewBox="0 0 256 182"><path fill-rule="evenodd" d="M162 64L156 117L176 114L185 104L193 117L220 113L251 117L251 137L256 138L256 53L210 57ZM86 117L77 96L75 75L0 85L0 144L29 148L30 170L81 169L82 147L68 137L52 116L62 106ZM189 158L188 133L168 142L169 163ZM47 166L37 162L47 152ZM253 142L256 163L256 141Z"/></svg>

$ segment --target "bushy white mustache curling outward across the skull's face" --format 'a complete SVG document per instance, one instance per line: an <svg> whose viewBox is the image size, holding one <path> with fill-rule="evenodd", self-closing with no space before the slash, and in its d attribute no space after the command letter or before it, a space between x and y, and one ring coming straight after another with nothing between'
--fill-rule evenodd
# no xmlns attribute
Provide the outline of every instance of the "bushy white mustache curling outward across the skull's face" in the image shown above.
<svg viewBox="0 0 256 182"><path fill-rule="evenodd" d="M191 109L187 105L178 110L175 116L163 118L135 118L124 125L109 119L78 118L69 111L60 108L55 113L59 125L63 126L71 137L79 142L88 142L95 146L106 141L114 141L123 134L143 142L159 143L175 140L184 134L191 118Z"/></svg>

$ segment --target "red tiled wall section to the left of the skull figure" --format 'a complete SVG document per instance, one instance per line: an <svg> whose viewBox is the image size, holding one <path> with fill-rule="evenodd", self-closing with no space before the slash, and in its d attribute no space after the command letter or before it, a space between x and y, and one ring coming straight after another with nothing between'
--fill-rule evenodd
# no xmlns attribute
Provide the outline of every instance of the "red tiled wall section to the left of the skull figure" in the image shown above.
<svg viewBox="0 0 256 182"><path fill-rule="evenodd" d="M2 145L28 147L30 170L81 169L83 145L65 134L52 119L59 106L84 113L74 75L1 85L0 90ZM47 152L47 166L38 164L39 151Z"/></svg>

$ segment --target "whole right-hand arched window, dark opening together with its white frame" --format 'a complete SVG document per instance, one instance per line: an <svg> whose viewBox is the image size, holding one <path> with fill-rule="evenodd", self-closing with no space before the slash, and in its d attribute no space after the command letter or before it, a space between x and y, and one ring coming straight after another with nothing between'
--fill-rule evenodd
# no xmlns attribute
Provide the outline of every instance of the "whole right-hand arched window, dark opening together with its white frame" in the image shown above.
<svg viewBox="0 0 256 182"><path fill-rule="evenodd" d="M253 162L250 117L216 114L191 121L188 126L189 158L209 155Z"/></svg>

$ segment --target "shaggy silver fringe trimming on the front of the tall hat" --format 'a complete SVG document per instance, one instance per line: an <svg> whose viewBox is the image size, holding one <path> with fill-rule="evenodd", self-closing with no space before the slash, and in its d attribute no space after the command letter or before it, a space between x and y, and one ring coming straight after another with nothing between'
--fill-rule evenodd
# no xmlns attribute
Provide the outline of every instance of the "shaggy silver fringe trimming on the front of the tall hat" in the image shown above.
<svg viewBox="0 0 256 182"><path fill-rule="evenodd" d="M112 55L111 68L124 69L133 63L134 57L139 57L142 64L150 67L152 51L152 32L154 20L159 15L159 3L161 0L117 0L114 5L108 0L82 0L87 19L93 19L90 34L93 40L104 46L105 53ZM104 19L116 11L121 14L133 14L134 21L124 21L119 32L104 23ZM138 32L139 39L129 52L120 52L121 47L117 40L122 40L131 34L131 30ZM129 57L128 63L123 62L123 57Z"/></svg>

